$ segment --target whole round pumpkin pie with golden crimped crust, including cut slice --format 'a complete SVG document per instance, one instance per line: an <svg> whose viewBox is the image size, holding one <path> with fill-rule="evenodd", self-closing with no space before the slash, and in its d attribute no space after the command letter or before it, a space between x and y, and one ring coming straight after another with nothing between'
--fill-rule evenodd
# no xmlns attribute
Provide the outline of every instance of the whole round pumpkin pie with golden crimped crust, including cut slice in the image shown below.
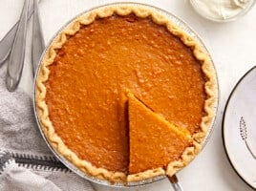
<svg viewBox="0 0 256 191"><path fill-rule="evenodd" d="M215 71L197 41L146 6L88 11L58 33L36 79L53 148L110 181L172 176L201 149Z"/></svg>

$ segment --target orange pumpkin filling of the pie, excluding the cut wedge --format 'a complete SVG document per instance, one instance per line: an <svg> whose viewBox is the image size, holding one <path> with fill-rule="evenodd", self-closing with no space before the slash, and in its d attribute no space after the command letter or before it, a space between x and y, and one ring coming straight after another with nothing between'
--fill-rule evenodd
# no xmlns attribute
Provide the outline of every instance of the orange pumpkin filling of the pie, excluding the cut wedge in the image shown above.
<svg viewBox="0 0 256 191"><path fill-rule="evenodd" d="M127 89L170 123L191 134L200 129L201 64L148 18L111 16L83 26L49 69L46 102L55 132L96 167L128 172Z"/></svg>

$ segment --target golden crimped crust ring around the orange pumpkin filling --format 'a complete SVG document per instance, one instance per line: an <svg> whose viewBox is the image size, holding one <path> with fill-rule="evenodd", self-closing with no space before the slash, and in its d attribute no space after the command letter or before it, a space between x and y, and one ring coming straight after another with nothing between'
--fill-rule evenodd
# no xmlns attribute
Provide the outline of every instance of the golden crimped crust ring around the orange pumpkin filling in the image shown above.
<svg viewBox="0 0 256 191"><path fill-rule="evenodd" d="M48 67L53 64L56 51L62 47L62 45L67 41L67 35L74 35L75 32L79 31L81 25L89 25L95 21L96 18L109 17L113 14L117 15L128 15L130 13L136 14L138 17L145 18L151 17L153 22L159 25L166 26L166 29L172 34L181 38L181 41L193 50L195 57L202 63L202 71L206 76L207 81L204 85L204 90L206 94L206 100L204 102L204 112L205 116L202 118L200 124L201 131L192 135L193 145L186 148L181 155L181 159L171 162L168 164L166 169L157 168L147 170L138 174L126 175L122 172L112 172L104 168L98 168L92 165L89 161L79 159L73 151L71 151L54 132L53 123L49 117L48 106L45 101L46 97L46 87L44 83L48 80L50 70ZM154 178L160 175L172 176L181 170L182 167L187 165L191 159L200 152L203 144L203 139L205 138L208 128L211 125L213 117L215 115L215 102L217 97L217 81L215 70L210 61L209 55L203 50L200 44L183 32L178 26L176 26L169 18L160 14L154 9L148 8L142 5L130 6L130 5L113 5L108 7L98 8L93 11L88 11L75 18L65 29L59 32L53 39L52 44L47 49L42 62L40 70L37 74L36 84L35 84L35 102L36 102L36 112L40 121L41 128L45 134L45 137L51 143L53 148L62 155L65 159L71 161L75 166L83 171L85 174L96 177L101 180L110 180L112 182L118 181L138 181L145 180L149 178Z"/></svg>

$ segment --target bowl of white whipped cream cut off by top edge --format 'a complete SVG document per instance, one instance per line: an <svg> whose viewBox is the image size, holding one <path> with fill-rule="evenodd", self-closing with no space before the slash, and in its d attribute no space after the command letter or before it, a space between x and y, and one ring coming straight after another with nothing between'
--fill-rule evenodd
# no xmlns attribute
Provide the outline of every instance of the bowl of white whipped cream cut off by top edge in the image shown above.
<svg viewBox="0 0 256 191"><path fill-rule="evenodd" d="M190 0L203 16L218 20L232 18L251 6L253 0Z"/></svg>

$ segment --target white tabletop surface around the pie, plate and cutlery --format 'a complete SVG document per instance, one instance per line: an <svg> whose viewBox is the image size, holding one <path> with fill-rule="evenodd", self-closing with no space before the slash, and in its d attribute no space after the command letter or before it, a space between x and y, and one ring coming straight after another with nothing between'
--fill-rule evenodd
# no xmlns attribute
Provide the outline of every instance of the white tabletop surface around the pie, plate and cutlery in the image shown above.
<svg viewBox="0 0 256 191"><path fill-rule="evenodd" d="M46 43L61 26L77 13L111 2L115 1L42 0L39 9ZM225 101L232 88L247 70L256 65L256 8L254 7L243 18L235 22L213 23L197 15L187 0L137 0L136 2L147 3L170 11L186 21L202 36L203 42L213 57L219 76L221 96L215 129L203 152L178 174L184 190L252 190L236 175L225 156L222 140L222 117ZM23 1L21 0L1 0L0 39L17 20L22 5ZM27 56L20 87L32 94L32 22L29 27ZM2 70L5 67L2 67ZM99 185L95 185L95 187L99 191L119 190ZM161 180L151 185L126 190L157 191L172 190L172 188L167 180Z"/></svg>

